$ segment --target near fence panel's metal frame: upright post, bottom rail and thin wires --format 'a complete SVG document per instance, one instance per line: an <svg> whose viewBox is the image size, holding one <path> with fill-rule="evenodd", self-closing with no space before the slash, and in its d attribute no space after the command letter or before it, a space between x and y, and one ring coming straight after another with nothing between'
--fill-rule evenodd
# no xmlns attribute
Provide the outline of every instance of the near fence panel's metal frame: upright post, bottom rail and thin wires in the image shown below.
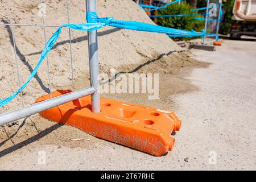
<svg viewBox="0 0 256 182"><path fill-rule="evenodd" d="M40 0L42 3L42 0ZM68 0L67 3L67 13L68 13L68 23L69 23L69 10L68 10ZM9 0L7 0L7 4L9 6ZM86 4L86 12L88 11L96 11L96 0L85 0ZM9 7L8 7L9 8ZM10 10L10 9L9 9ZM11 20L9 18L9 20ZM43 19L43 25L38 24L12 24L11 22L6 24L0 24L0 26L35 26L35 27L44 27L44 35L46 27L59 27L56 25L46 25ZM14 39L13 39L14 40ZM15 40L14 40L15 42ZM71 69L72 69L72 86L74 88L73 81L73 60L72 60L72 46L71 46L71 31L69 30L69 44L71 48ZM14 46L15 48L15 46ZM77 91L64 94L63 96L50 98L49 100L38 102L36 104L32 104L29 106L23 106L21 109L12 110L3 114L0 114L0 126L5 125L7 123L16 121L18 119L22 119L25 117L29 117L32 114L39 113L40 111L50 109L52 107L56 107L58 105L64 104L66 102L70 102L76 99L79 99L84 96L91 95L92 97L92 112L100 113L100 84L98 81L98 45L97 45L97 31L88 31L88 49L89 49L89 70L90 70L90 86L88 88L80 89ZM15 50L14 50L15 51ZM15 51L16 56L16 51ZM18 71L18 64L17 64ZM48 69L49 74L49 69ZM19 72L18 72L19 77ZM49 78L49 77L48 77ZM20 78L19 78L20 79ZM50 81L50 80L49 80Z"/></svg>

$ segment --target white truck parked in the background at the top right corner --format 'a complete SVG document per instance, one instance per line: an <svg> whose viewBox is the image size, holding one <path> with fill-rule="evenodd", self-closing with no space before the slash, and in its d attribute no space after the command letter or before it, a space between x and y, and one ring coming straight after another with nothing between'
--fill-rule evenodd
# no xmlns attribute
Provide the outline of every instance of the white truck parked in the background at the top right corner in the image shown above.
<svg viewBox="0 0 256 182"><path fill-rule="evenodd" d="M235 0L232 20L231 38L256 37L256 0Z"/></svg>

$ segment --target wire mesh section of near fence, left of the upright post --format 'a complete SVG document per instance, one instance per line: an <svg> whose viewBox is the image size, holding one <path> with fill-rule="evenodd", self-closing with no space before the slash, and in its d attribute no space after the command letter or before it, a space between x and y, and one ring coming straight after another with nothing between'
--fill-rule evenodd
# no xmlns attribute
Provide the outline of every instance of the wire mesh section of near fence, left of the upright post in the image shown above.
<svg viewBox="0 0 256 182"><path fill-rule="evenodd" d="M95 0L88 1L95 6ZM77 3L80 6L76 6ZM36 111L34 106L36 98L54 90L77 91L67 98L68 100L73 96L75 96L73 98L79 98L94 93L95 89L92 87L85 88L84 84L75 84L76 72L89 75L89 64L86 63L88 36L84 31L72 32L69 28L63 28L59 39L47 53L38 71L23 88L23 84L26 84L38 64L44 46L57 28L65 23L86 22L85 0L32 2L3 0L0 2L0 10L0 86L2 90L0 101L18 92L18 95L11 98L8 104L7 101L4 105L2 103L1 125L9 112L16 111L20 115L26 115L23 111L29 112L28 108L34 108ZM86 80L89 78L85 79L85 83L90 84ZM47 109L51 104L52 102L49 102L48 105L42 106Z"/></svg>

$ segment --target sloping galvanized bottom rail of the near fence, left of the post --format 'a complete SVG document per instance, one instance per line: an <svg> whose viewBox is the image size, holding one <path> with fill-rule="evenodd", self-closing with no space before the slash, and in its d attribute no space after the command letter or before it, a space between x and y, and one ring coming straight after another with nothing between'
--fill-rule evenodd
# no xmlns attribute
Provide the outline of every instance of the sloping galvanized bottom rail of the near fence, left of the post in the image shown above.
<svg viewBox="0 0 256 182"><path fill-rule="evenodd" d="M0 115L0 126L96 92L92 86Z"/></svg>

